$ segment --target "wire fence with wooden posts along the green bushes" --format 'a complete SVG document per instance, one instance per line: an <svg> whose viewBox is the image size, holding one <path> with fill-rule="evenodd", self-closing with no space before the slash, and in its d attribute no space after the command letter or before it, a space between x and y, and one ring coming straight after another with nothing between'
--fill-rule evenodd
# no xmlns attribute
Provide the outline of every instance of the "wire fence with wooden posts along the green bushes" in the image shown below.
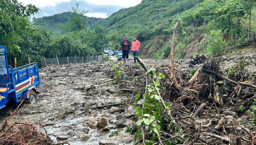
<svg viewBox="0 0 256 145"><path fill-rule="evenodd" d="M81 64L89 62L100 62L106 61L106 55L97 55L97 56L68 56L68 57L57 57L56 58L44 58L40 62L42 67L47 65L66 65L66 64Z"/></svg>

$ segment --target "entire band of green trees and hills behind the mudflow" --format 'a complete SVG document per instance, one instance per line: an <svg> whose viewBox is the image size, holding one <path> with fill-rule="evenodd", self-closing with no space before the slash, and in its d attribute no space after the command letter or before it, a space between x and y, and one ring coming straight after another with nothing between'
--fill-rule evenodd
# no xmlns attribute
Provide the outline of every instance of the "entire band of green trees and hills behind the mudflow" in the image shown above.
<svg viewBox="0 0 256 145"><path fill-rule="evenodd" d="M218 56L223 51L252 44L253 32L245 35L243 29L256 30L255 4L256 0L142 0L135 7L100 19L85 17L87 11L80 10L77 3L73 12L33 18L31 26L29 18L38 12L35 6L4 1L0 5L0 12L4 13L0 17L0 42L7 45L11 63L13 57L26 63L27 55L38 62L56 54L102 54L106 48L120 49L120 40L125 35L130 40L137 36L141 42L140 57L165 59L170 56L173 27L180 19L176 58L196 54ZM20 9L15 10L16 7Z"/></svg>

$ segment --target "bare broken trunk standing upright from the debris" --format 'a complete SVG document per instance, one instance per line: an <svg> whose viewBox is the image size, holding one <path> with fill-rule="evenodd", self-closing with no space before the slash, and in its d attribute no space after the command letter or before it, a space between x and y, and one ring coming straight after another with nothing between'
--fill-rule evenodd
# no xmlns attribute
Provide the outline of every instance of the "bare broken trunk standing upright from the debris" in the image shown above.
<svg viewBox="0 0 256 145"><path fill-rule="evenodd" d="M177 32L177 29L180 25L180 19L178 19L176 25L175 25L175 28L173 29L173 37L172 37L172 49L171 49L171 78L172 78L172 81L173 81L173 84L174 84L174 87L176 89L179 89L179 90L184 90L184 87L182 87L181 85L179 85L177 83L177 80L176 80L176 77L175 77L175 72L174 72L174 48L175 48L175 34Z"/></svg>

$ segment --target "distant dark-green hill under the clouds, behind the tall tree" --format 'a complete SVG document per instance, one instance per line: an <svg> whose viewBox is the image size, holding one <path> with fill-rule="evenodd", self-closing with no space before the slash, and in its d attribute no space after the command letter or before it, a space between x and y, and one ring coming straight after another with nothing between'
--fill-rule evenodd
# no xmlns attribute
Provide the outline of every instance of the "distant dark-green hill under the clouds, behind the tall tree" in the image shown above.
<svg viewBox="0 0 256 145"><path fill-rule="evenodd" d="M33 25L34 26L42 26L46 27L48 30L51 30L55 34L60 34L60 25L64 24L68 21L68 19L73 18L74 12L63 12L54 14L53 16L47 16L42 18L33 18ZM91 26L92 24L98 22L102 18L95 18L95 17L87 17L82 16L87 19L87 21L84 22L85 26Z"/></svg>

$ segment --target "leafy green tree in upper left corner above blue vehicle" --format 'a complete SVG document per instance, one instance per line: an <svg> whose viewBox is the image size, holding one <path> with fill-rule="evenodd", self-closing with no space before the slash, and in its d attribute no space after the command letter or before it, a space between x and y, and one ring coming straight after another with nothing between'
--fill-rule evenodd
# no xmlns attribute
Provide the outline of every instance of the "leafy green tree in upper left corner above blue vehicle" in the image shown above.
<svg viewBox="0 0 256 145"><path fill-rule="evenodd" d="M18 38L32 33L28 20L38 10L35 5L24 6L17 0L0 0L0 44L6 45L11 54L19 51Z"/></svg>

